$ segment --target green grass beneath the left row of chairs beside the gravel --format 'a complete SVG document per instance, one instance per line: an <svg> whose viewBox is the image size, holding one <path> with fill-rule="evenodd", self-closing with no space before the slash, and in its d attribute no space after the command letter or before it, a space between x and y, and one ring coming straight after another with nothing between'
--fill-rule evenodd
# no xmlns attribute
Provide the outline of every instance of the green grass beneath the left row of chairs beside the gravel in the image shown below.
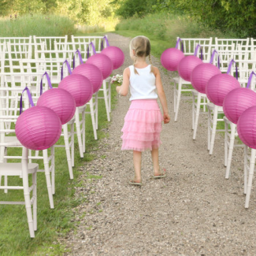
<svg viewBox="0 0 256 256"><path fill-rule="evenodd" d="M102 92L100 92L102 93ZM114 107L117 100L115 86L112 86L112 106ZM106 136L102 131L109 124L106 118L106 108L104 100L98 101L98 139ZM76 139L76 135L75 135ZM61 141L63 144L63 139ZM61 255L64 254L64 247L56 244L58 236L65 236L65 233L76 229L78 222L73 221L74 215L72 209L81 202L86 202L87 197L80 195L74 196L74 187L79 187L78 178L82 172L80 167L85 166L87 161L95 158L94 150L97 150L98 141L95 141L91 115L86 117L86 148L87 152L84 158L80 158L77 141L75 141L75 167L73 168L74 180L69 180L69 169L65 157L65 149L55 149L55 185L56 193L54 195L54 209L50 209L49 199L46 189L46 178L44 173L38 173L37 191L38 191L38 230L35 232L35 238L31 239L28 232L27 216L24 206L8 206L0 207L0 255ZM17 153L11 152L9 154ZM39 161L40 168L43 169L42 161ZM102 176L91 175L87 172L88 182L101 179ZM9 179L11 182L21 182L21 179ZM4 194L0 191L0 201L7 200L22 201L22 191L9 191Z"/></svg>

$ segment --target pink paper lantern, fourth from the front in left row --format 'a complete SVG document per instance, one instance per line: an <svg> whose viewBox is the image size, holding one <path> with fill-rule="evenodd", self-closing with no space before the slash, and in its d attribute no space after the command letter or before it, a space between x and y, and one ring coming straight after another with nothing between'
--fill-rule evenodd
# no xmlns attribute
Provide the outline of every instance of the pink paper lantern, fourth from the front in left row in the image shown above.
<svg viewBox="0 0 256 256"><path fill-rule="evenodd" d="M72 74L86 76L87 79L91 81L91 84L93 86L93 93L95 93L100 89L100 87L102 87L102 72L95 65L88 63L80 64L72 71Z"/></svg>

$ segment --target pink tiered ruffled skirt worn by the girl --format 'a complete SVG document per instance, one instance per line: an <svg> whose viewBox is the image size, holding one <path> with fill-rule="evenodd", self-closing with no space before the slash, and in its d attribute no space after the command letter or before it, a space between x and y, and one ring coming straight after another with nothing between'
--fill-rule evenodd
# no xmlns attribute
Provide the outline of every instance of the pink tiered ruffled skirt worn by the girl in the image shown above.
<svg viewBox="0 0 256 256"><path fill-rule="evenodd" d="M153 150L161 145L163 117L156 99L133 100L124 117L121 150Z"/></svg>

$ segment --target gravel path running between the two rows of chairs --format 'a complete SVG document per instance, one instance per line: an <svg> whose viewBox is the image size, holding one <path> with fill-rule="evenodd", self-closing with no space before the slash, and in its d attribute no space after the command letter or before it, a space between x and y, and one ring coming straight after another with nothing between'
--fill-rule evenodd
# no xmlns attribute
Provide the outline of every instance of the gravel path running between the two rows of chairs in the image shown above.
<svg viewBox="0 0 256 256"><path fill-rule="evenodd" d="M132 64L130 39L109 34L109 43L124 50ZM161 68L159 60L154 65ZM133 174L132 151L121 151L121 128L128 97L118 98L109 136L102 139L94 161L84 169L102 179L80 177L76 196L87 200L73 210L80 221L60 243L66 255L255 255L256 191L244 209L243 150L234 150L232 175L224 179L224 138L217 135L213 155L207 151L206 115L199 120L197 139L191 130L191 102L182 101L173 122L172 72L161 69L169 102L170 124L161 133L160 163L168 171L163 180L150 180L150 152L143 154L143 187L128 185Z"/></svg>

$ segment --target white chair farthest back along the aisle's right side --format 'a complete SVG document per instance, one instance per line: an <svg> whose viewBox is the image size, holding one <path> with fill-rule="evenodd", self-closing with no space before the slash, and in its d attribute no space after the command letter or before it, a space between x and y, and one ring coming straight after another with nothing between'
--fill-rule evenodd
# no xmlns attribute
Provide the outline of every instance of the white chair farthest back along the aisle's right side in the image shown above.
<svg viewBox="0 0 256 256"><path fill-rule="evenodd" d="M179 38L177 38L179 39ZM184 45L184 54L193 55L195 53L195 47L199 44L203 51L203 61L210 61L211 47L213 39L181 39ZM180 46L178 47L180 49ZM173 78L174 83L174 121L177 121L179 108L180 108L180 99L181 98L191 98L191 96L182 96L182 93L191 93L192 89L188 86L191 84L183 80L180 76ZM196 95L197 92L194 91Z"/></svg>

